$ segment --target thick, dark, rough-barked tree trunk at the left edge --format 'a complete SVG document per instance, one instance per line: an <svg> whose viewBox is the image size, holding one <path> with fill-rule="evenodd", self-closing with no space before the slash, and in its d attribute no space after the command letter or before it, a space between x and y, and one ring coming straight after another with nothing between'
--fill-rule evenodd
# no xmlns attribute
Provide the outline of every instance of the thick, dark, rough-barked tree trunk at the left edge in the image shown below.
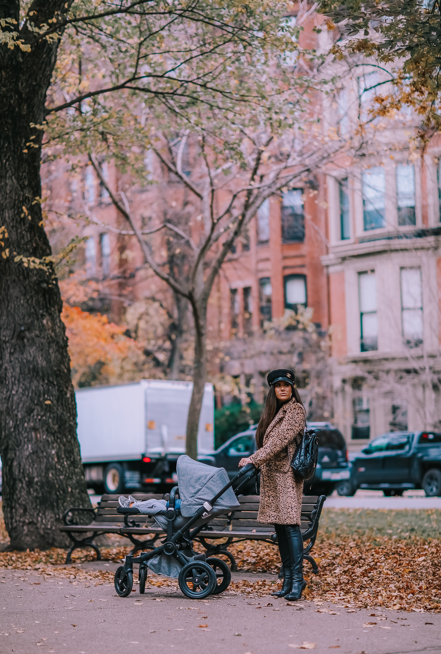
<svg viewBox="0 0 441 654"><path fill-rule="evenodd" d="M39 24L64 6L41 0L31 9ZM18 22L19 3L0 2L0 18ZM52 264L46 271L29 260L51 254L36 200L42 130L31 123L44 121L58 43L20 37L31 52L0 45L0 228L8 234L0 238L0 455L11 547L44 549L66 544L63 511L90 500L56 275ZM14 262L16 255L28 260Z"/></svg>

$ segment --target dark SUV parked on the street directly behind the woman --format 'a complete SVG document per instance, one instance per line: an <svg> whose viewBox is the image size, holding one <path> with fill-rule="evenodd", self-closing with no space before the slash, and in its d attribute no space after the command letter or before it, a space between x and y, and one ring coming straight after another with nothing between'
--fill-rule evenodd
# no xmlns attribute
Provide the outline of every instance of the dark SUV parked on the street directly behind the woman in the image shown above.
<svg viewBox="0 0 441 654"><path fill-rule="evenodd" d="M319 455L316 475L312 485L305 484L305 490L311 494L329 495L336 488L340 494L350 494L350 468L342 434L330 422L308 422L308 428L320 429L321 432L318 434ZM237 474L240 459L255 453L256 429L257 424L253 424L245 432L240 432L227 440L213 453L213 465L225 468L230 479ZM204 462L208 463L208 460ZM252 492L248 488L246 490Z"/></svg>

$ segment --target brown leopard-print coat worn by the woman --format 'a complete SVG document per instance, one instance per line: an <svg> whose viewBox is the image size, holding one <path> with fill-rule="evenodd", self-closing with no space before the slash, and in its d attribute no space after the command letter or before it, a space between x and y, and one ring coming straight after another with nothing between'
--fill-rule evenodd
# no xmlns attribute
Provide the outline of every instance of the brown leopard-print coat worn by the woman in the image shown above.
<svg viewBox="0 0 441 654"><path fill-rule="evenodd" d="M302 405L295 398L289 400L265 432L263 447L250 456L261 469L259 523L301 523L303 480L295 477L290 464L303 436L305 418Z"/></svg>

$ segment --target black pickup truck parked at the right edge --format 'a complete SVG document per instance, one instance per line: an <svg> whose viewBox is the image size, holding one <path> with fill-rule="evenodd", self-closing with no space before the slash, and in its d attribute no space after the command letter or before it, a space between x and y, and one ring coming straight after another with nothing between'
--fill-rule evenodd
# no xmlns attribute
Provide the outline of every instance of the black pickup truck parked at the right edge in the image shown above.
<svg viewBox="0 0 441 654"><path fill-rule="evenodd" d="M374 438L360 453L350 455L352 490L382 490L402 495L423 489L441 495L441 434L390 432Z"/></svg>

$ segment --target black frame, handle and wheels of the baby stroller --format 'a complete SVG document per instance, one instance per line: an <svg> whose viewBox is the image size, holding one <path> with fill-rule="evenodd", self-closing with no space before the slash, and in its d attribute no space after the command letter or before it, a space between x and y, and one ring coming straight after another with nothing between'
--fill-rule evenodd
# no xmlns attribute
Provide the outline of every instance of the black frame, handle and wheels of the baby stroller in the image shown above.
<svg viewBox="0 0 441 654"><path fill-rule="evenodd" d="M237 495L240 489L244 487L250 481L250 479L255 477L257 473L258 470L255 468L255 466L253 466L252 463L244 466L242 470L240 470L240 472L238 472L238 474L223 487L223 489L221 489L209 502L204 502L203 506L197 509L195 515L193 515L193 517L191 517L189 521L182 528L180 528L180 530L173 534L173 521L177 515L175 510L176 493L179 490L178 486L175 486L170 493L169 508L159 513L159 515L165 515L167 518L167 536L165 540L162 541L162 544L159 547L155 547L148 552L142 552L137 557L134 557L131 554L125 556L125 559L123 559L124 565L120 566L120 568L118 568L115 573L115 589L118 595L121 597L127 597L131 593L133 587L134 563L139 563L139 590L140 593L144 593L148 568L147 562L160 554L167 554L174 557L180 566L182 566L178 580L180 589L184 594L192 598L203 598L216 592L216 573L213 571L210 565L205 562L205 555L198 555L195 552L193 557L187 557L182 552L182 550L189 549L190 551L193 551L193 538L195 538L201 529L203 529L204 524L199 525L190 531L191 527L195 525L199 519L206 518L208 515L210 515L210 511L212 511L214 504L225 493L225 491L230 487L233 487L233 490ZM135 507L119 507L118 513L123 513L124 515L139 515L140 511ZM216 559L216 562L218 562L220 566L223 564L223 566L225 566L229 572L228 566L225 564L225 562L219 559ZM190 571L190 576L192 579L191 585L193 585L193 590L189 589L188 585L182 582L181 579L182 572ZM231 576L229 578L231 579ZM228 583L229 580L227 585ZM199 592L197 591L198 588L201 589ZM222 590L225 590L225 588Z"/></svg>

